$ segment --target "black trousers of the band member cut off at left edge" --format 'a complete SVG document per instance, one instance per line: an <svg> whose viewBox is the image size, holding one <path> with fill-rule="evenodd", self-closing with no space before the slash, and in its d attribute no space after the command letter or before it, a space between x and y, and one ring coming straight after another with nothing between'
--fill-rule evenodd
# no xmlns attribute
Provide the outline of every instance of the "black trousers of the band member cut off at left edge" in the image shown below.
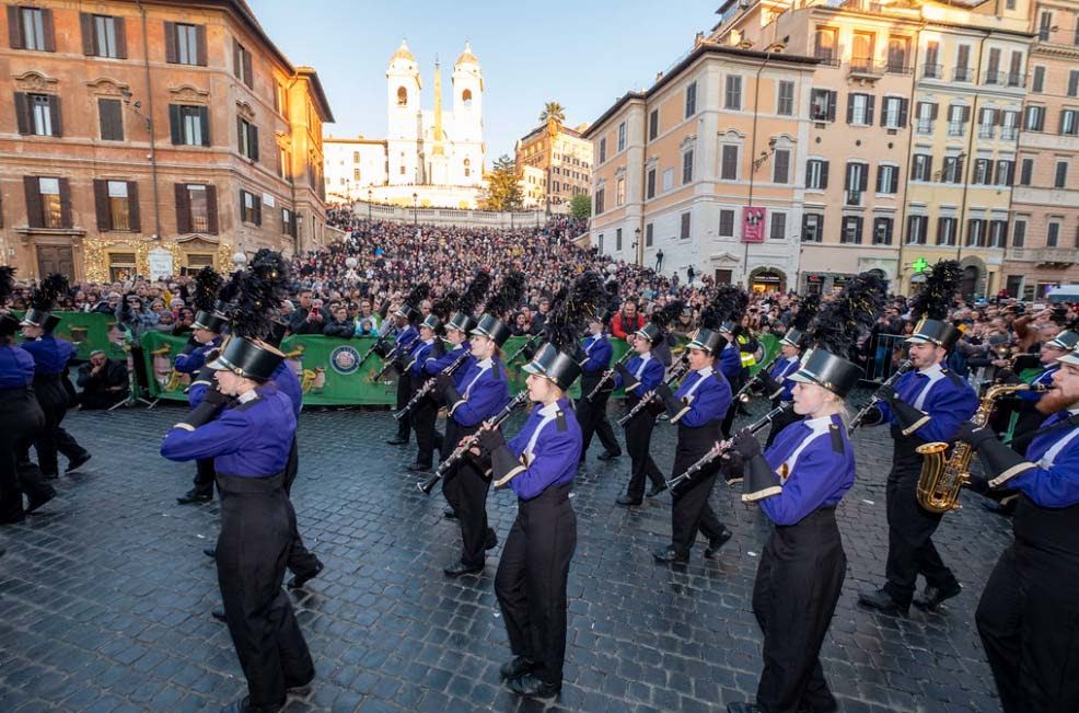
<svg viewBox="0 0 1079 713"><path fill-rule="evenodd" d="M0 522L23 517L23 493L31 503L56 491L30 462L30 446L45 427L45 414L30 387L0 389Z"/></svg>

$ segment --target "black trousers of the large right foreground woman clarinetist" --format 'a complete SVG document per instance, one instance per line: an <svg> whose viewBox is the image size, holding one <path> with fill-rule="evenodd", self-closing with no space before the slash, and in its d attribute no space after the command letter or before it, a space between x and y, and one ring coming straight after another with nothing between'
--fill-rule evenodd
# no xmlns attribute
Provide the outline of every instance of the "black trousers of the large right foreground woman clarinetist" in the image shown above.
<svg viewBox="0 0 1079 713"><path fill-rule="evenodd" d="M846 572L834 507L777 527L768 539L753 584L764 634L757 704L767 713L837 710L820 655Z"/></svg>

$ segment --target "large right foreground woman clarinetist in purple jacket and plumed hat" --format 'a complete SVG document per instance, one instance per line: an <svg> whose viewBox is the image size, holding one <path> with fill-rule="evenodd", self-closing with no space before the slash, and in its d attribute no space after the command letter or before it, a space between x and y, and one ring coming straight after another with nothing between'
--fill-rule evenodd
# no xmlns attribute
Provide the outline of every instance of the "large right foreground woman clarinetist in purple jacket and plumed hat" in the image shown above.
<svg viewBox="0 0 1079 713"><path fill-rule="evenodd" d="M775 528L753 585L764 670L756 701L730 703L729 713L838 710L820 654L847 571L835 508L855 482L844 399L862 369L837 355L849 354L859 332L869 331L877 312L865 308L883 298L875 277L850 280L822 311L813 333L802 335L814 348L790 375L798 419L764 453L749 429L730 445L732 467L743 473L742 501L759 505Z"/></svg>

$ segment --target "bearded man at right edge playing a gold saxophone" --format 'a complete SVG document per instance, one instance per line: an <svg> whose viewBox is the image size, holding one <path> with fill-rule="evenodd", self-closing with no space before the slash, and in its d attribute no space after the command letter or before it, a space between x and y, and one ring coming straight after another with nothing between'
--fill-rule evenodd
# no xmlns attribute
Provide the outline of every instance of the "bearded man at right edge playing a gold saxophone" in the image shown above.
<svg viewBox="0 0 1079 713"><path fill-rule="evenodd" d="M1016 541L975 616L1005 713L1079 711L1079 352L1057 363L1037 406L1052 415L1030 434L1025 457L991 428L967 422L956 434L982 461L975 487L1019 492Z"/></svg>

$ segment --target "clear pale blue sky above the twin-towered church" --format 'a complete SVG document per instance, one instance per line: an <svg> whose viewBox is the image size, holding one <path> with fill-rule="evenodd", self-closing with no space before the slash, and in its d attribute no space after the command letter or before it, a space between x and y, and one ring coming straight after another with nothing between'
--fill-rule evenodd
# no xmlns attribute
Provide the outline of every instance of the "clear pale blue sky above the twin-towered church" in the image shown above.
<svg viewBox="0 0 1079 713"><path fill-rule="evenodd" d="M420 66L424 108L433 108L434 56L450 73L472 43L484 73L488 166L538 124L544 102L566 107L566 124L592 122L629 90L646 89L718 20L719 1L248 0L293 65L318 71L337 119L336 137L383 139L386 64L404 36Z"/></svg>

